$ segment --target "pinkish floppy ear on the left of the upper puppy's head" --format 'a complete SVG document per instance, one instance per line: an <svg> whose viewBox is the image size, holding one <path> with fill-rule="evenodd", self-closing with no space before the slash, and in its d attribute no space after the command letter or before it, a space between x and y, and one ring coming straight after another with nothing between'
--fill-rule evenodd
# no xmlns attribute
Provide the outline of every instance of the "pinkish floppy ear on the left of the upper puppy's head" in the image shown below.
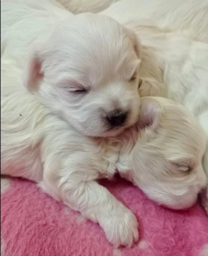
<svg viewBox="0 0 208 256"><path fill-rule="evenodd" d="M42 62L40 53L36 50L32 51L23 71L23 84L29 91L38 90L39 83L44 77L41 70Z"/></svg>

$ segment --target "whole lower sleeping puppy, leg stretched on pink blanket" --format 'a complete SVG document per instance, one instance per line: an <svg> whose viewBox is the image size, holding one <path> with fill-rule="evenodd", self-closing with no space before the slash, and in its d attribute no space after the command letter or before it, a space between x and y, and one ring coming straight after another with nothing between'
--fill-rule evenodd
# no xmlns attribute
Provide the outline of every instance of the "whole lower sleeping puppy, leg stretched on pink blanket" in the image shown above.
<svg viewBox="0 0 208 256"><path fill-rule="evenodd" d="M115 247L138 240L138 222L97 180L122 177L173 209L195 203L205 185L205 133L195 118L163 98L141 100L135 126L118 137L85 136L17 91L1 100L1 174L23 177L98 222Z"/></svg>

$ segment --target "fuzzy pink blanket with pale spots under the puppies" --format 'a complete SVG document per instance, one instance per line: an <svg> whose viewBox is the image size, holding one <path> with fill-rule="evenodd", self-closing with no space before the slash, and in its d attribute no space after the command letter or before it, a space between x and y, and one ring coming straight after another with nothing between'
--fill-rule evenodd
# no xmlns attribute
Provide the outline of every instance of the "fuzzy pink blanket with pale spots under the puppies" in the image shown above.
<svg viewBox="0 0 208 256"><path fill-rule="evenodd" d="M140 240L114 249L98 224L23 179L1 180L1 256L208 256L208 216L158 206L121 179L103 182L139 221Z"/></svg>

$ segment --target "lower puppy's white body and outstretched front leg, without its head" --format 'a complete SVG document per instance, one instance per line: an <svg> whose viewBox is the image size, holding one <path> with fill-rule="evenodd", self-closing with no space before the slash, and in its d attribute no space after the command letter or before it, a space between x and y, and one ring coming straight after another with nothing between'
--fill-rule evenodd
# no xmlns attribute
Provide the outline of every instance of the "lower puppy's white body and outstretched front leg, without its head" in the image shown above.
<svg viewBox="0 0 208 256"><path fill-rule="evenodd" d="M7 84L9 86L9 84ZM97 179L116 171L120 144L73 129L35 95L1 100L1 174L23 177L86 218L98 222L114 246L138 240L138 222Z"/></svg>

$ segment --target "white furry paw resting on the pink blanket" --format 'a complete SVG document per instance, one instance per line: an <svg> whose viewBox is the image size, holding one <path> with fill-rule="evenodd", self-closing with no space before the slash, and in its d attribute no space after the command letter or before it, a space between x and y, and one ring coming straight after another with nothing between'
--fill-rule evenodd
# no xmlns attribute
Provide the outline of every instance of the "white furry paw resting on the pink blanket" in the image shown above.
<svg viewBox="0 0 208 256"><path fill-rule="evenodd" d="M102 218L100 223L105 231L108 241L114 247L126 246L131 247L138 241L138 221L135 215L126 207L115 209Z"/></svg>

